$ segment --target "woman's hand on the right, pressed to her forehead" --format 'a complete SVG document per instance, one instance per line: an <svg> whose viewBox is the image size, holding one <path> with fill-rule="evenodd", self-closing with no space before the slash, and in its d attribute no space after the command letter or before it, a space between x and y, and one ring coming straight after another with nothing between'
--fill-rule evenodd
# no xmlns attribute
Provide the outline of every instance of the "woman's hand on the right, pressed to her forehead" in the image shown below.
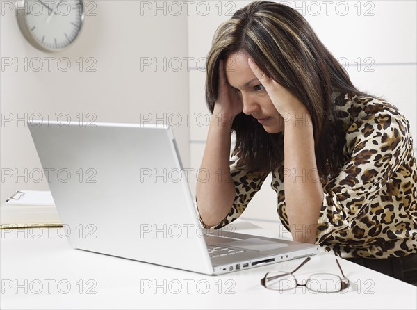
<svg viewBox="0 0 417 310"><path fill-rule="evenodd" d="M279 85L273 79L270 79L259 67L254 63L252 58L248 58L247 63L249 64L252 72L259 79L259 82L265 87L266 92L272 101L272 104L275 106L277 111L281 115L286 113L300 113L305 112L306 107L302 102L295 97L289 90L284 88L282 85Z"/></svg>

